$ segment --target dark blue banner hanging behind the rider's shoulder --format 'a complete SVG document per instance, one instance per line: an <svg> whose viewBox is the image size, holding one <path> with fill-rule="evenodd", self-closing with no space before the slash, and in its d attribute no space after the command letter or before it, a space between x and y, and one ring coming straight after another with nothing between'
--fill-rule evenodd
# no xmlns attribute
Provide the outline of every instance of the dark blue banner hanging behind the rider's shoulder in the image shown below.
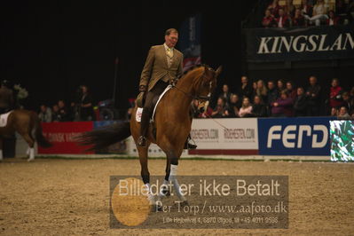
<svg viewBox="0 0 354 236"><path fill-rule="evenodd" d="M201 64L201 14L187 18L178 36L178 49L184 54L183 70Z"/></svg>

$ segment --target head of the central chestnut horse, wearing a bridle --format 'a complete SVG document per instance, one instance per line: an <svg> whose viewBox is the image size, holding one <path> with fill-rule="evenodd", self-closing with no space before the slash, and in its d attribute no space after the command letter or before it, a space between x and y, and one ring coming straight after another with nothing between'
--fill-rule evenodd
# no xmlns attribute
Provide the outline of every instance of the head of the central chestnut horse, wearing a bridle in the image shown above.
<svg viewBox="0 0 354 236"><path fill-rule="evenodd" d="M193 89L195 93L195 97L201 100L209 100L211 94L216 88L216 79L217 76L220 75L222 67L218 67L214 70L212 67L208 67L206 65L203 66L204 71L201 76L195 80L193 84Z"/></svg>

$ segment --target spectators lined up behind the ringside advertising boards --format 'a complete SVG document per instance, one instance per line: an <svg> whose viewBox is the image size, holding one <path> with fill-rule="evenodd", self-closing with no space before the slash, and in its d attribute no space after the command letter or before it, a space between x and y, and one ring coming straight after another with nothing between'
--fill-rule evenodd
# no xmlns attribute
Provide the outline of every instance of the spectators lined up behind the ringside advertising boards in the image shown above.
<svg viewBox="0 0 354 236"><path fill-rule="evenodd" d="M194 118L237 118L237 117L296 117L331 115L340 119L354 119L354 87L345 90L339 79L332 80L329 94L310 76L306 87L296 87L292 81L257 80L251 83L247 76L240 79L238 90L231 91L227 84L222 86L215 106L202 106L193 99ZM325 98L325 99L324 99ZM326 106L323 113L320 109ZM127 112L130 118L132 107ZM87 86L80 86L75 102L67 106L65 100L52 105L41 105L38 112L42 122L94 121L96 116L93 101Z"/></svg>

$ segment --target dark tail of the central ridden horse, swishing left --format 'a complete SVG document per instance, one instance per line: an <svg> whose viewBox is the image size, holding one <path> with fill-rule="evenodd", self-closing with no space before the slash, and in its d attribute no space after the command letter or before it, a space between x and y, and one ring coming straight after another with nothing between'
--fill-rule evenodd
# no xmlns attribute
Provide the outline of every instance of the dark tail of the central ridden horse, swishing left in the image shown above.
<svg viewBox="0 0 354 236"><path fill-rule="evenodd" d="M84 132L77 141L82 146L91 146L86 151L97 151L130 137L130 122L118 122L102 129Z"/></svg>

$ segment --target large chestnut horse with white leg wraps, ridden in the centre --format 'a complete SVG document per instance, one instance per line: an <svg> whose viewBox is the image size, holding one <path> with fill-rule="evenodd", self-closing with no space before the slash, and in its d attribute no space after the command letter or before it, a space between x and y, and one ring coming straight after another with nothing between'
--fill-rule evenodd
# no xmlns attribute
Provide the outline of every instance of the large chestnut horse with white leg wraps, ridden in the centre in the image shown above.
<svg viewBox="0 0 354 236"><path fill-rule="evenodd" d="M167 190L169 182L173 184L177 196L182 202L181 205L188 204L177 182L177 165L184 149L185 140L191 131L191 103L193 98L200 100L210 98L212 91L216 88L216 78L220 72L221 67L218 67L216 71L206 65L191 68L172 89L165 93L156 107L153 124L155 135L153 135L153 126L150 125L146 147L137 146L141 177L146 185L147 198L151 205L161 206L161 198L169 195ZM99 150L132 135L137 144L140 135L140 123L136 121L137 108L134 108L130 122L122 122L106 129L86 132L79 138L79 142L82 145L93 145L90 150ZM158 201L154 200L150 191L150 173L147 168L148 146L151 143L160 146L167 155L166 177L164 185L161 185Z"/></svg>

